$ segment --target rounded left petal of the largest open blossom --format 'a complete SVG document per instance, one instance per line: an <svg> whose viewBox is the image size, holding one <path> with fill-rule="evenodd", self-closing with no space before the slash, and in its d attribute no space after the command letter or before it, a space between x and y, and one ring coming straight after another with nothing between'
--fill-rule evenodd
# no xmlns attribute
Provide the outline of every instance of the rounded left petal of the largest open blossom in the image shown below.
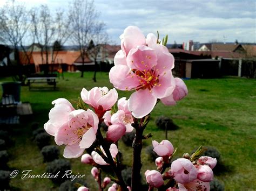
<svg viewBox="0 0 256 191"><path fill-rule="evenodd" d="M131 72L129 67L124 65L112 67L109 72L109 79L113 86L120 90L130 90L139 86L136 75Z"/></svg>

